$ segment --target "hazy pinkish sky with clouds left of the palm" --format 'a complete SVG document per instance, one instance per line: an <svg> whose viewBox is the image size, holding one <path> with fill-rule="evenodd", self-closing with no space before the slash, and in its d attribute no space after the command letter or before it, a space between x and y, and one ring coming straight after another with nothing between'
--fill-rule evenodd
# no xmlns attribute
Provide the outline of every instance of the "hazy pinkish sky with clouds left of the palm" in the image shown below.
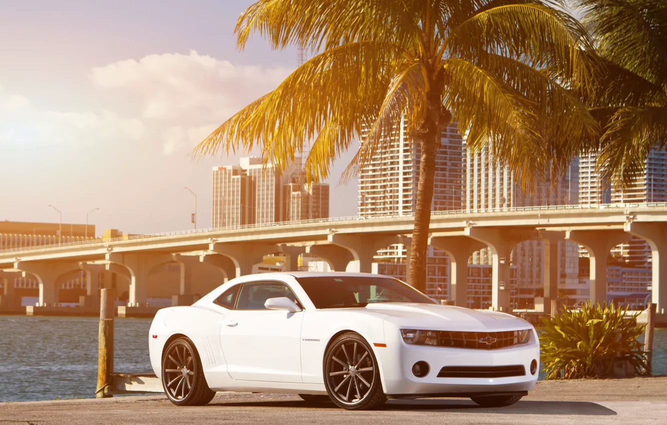
<svg viewBox="0 0 667 425"><path fill-rule="evenodd" d="M233 28L250 0L0 0L0 220L155 233L211 225L211 168L191 149L298 65ZM255 153L256 154L256 153ZM357 214L356 182L331 216ZM344 201L338 201L338 200Z"/></svg>

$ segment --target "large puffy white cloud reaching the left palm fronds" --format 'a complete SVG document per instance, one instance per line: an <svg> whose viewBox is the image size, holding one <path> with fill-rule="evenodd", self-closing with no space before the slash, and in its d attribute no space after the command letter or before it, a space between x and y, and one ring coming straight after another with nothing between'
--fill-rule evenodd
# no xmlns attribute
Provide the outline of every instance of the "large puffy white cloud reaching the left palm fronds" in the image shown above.
<svg viewBox="0 0 667 425"><path fill-rule="evenodd" d="M189 149L242 107L275 89L290 69L235 65L167 53L128 59L90 72L93 85L131 99L127 113L154 127L165 155Z"/></svg>

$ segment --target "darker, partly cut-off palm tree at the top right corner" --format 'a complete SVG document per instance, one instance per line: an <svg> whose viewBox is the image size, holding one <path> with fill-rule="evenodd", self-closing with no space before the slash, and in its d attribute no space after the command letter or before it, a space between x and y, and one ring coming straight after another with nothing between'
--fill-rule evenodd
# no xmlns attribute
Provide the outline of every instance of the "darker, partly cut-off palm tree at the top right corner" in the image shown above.
<svg viewBox="0 0 667 425"><path fill-rule="evenodd" d="M617 187L644 172L653 148L667 145L667 2L576 0L602 56L588 101L604 134L598 169Z"/></svg>

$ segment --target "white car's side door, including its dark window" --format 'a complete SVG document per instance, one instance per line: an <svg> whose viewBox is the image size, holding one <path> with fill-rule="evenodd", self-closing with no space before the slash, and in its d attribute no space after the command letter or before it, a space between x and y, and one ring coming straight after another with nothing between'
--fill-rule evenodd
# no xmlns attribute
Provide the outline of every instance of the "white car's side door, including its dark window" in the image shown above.
<svg viewBox="0 0 667 425"><path fill-rule="evenodd" d="M287 296L298 303L284 282L248 282L241 286L235 309L221 327L227 372L235 380L302 382L303 312L269 310L268 298Z"/></svg>

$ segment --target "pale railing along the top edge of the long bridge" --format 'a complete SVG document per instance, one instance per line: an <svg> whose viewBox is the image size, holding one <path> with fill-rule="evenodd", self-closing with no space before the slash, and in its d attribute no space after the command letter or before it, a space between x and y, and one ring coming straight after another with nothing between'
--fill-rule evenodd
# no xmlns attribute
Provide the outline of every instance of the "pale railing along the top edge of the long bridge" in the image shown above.
<svg viewBox="0 0 667 425"><path fill-rule="evenodd" d="M442 215L486 215L486 214L506 214L506 213L517 213L522 211L571 211L571 210L580 210L580 211L590 211L590 210L602 210L602 209L651 209L651 208L666 208L667 203L614 203L614 204L597 204L597 205L538 205L531 207L507 207L507 208L498 208L491 211L474 211L474 210L450 210L450 211L434 211L432 216L442 216ZM323 222L330 223L339 223L339 222L350 222L356 220L376 220L376 219L387 219L393 218L400 220L402 218L413 216L414 214L405 214L404 216L396 216L395 214L386 215L386 216L347 216L347 217L329 217L329 218L310 218L308 220L294 220L294 221L283 221L283 222L274 222L274 223L260 223L260 224L242 224L237 226L223 226L215 228L198 228L191 230L176 230L173 232L163 232L163 233L151 233L151 234L137 234L132 236L121 236L117 238L108 238L108 239L92 239L84 240L77 242L63 242L60 244L48 244L48 245L33 245L33 246L14 246L12 248L0 249L0 253L7 252L17 252L17 251L27 251L27 250L38 250L38 249L47 249L47 248L58 248L65 246L84 246L91 244L106 244L108 242L118 242L121 240L137 240L145 238L157 238L164 236L179 236L182 234L205 234L205 233L214 233L221 232L225 230L244 230L251 228L273 228L275 226L297 226L299 224L316 224Z"/></svg>

